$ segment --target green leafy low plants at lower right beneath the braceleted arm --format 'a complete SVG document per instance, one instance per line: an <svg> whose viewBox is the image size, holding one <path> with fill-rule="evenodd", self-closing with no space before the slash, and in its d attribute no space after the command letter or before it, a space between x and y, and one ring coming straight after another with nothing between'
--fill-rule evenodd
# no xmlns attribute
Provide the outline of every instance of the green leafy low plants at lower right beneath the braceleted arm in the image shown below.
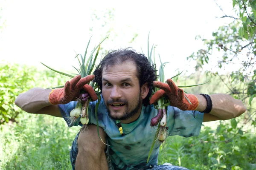
<svg viewBox="0 0 256 170"><path fill-rule="evenodd" d="M220 121L216 130L202 128L198 137L169 137L161 148L159 164L169 162L195 170L256 168L256 135L245 133L239 120Z"/></svg>

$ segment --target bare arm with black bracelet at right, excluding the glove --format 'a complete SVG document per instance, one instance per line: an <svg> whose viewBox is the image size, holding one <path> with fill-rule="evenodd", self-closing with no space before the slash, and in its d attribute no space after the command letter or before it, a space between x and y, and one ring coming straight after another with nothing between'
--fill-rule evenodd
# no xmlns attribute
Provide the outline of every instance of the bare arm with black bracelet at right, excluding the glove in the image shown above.
<svg viewBox="0 0 256 170"><path fill-rule="evenodd" d="M197 111L204 111L207 105L206 99L202 95L196 95L199 101ZM240 116L246 111L241 100L234 99L227 94L212 94L212 111L204 114L203 122L215 120L227 120Z"/></svg>

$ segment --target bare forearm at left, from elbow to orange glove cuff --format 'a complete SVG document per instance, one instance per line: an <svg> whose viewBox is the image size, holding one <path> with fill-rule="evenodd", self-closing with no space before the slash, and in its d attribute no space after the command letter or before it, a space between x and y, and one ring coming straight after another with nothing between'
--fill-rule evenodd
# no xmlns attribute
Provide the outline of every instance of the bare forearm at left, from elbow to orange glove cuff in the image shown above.
<svg viewBox="0 0 256 170"><path fill-rule="evenodd" d="M50 106L49 94L51 89L32 88L20 94L15 100L15 104L23 111L37 113L42 108Z"/></svg>

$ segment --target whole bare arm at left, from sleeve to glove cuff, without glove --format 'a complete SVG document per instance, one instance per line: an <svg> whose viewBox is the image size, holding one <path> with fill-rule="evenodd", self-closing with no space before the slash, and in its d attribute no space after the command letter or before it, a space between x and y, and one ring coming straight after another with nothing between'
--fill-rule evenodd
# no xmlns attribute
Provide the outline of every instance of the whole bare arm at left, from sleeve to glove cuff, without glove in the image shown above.
<svg viewBox="0 0 256 170"><path fill-rule="evenodd" d="M58 105L51 105L49 102L50 92L51 89L32 88L20 94L15 100L15 105L28 113L62 117Z"/></svg>

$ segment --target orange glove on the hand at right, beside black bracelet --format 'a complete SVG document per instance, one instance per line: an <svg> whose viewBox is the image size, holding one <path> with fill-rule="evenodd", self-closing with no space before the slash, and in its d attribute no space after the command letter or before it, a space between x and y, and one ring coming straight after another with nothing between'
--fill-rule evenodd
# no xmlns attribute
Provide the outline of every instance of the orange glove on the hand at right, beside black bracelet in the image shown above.
<svg viewBox="0 0 256 170"><path fill-rule="evenodd" d="M184 91L175 85L172 79L168 79L167 83L163 82L154 82L153 85L157 88L160 88L150 99L150 104L154 104L163 96L167 96L170 101L170 106L174 106L183 111L195 111L198 107L199 102L198 98L194 94L185 94ZM185 96L192 103L189 104Z"/></svg>

